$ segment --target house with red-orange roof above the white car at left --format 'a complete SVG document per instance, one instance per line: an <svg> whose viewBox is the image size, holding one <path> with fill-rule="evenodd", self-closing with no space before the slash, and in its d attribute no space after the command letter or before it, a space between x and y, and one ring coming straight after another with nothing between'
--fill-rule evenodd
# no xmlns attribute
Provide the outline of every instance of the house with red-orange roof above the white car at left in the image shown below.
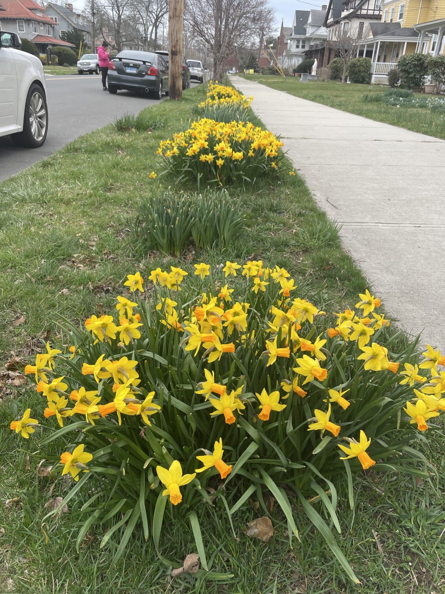
<svg viewBox="0 0 445 594"><path fill-rule="evenodd" d="M72 43L56 38L54 21L46 15L45 8L33 0L2 0L2 8L0 29L35 43L39 53L46 53L53 45L74 48Z"/></svg>

